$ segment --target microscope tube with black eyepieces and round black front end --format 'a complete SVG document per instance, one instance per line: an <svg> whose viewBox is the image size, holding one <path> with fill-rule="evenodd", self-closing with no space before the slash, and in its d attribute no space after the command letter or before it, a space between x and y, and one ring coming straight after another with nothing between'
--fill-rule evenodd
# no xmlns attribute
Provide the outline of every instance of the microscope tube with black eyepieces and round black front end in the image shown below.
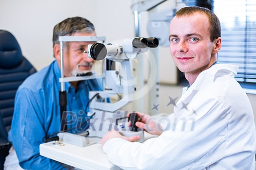
<svg viewBox="0 0 256 170"><path fill-rule="evenodd" d="M158 41L158 38L156 37L149 37L149 38L136 37L131 40L129 39L128 41L125 41L125 43L121 45L105 46L104 44L101 44L101 43L94 43L89 50L89 53L90 53L89 55L91 56L92 59L99 61L99 60L103 60L107 55L117 55L118 53L128 52L128 51L125 51L124 47L121 47L121 49L118 49L118 46L123 45L123 46L132 46L135 49L145 49L147 47L156 48L158 47L158 44L159 44L159 41ZM123 51L120 52L120 50L123 50ZM134 53L138 52L138 50L133 52Z"/></svg>

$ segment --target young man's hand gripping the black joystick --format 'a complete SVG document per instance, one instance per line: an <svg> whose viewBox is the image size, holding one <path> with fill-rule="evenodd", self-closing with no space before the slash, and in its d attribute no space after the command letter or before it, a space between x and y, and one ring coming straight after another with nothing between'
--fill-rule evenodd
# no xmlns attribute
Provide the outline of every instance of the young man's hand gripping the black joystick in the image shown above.
<svg viewBox="0 0 256 170"><path fill-rule="evenodd" d="M157 122L150 117L147 114L142 114L139 112L136 112L138 114L138 121L135 123L135 125L140 128L140 129L144 129L146 132L152 134L152 135L161 135L163 130L162 127L157 124ZM130 116L130 114L128 115L128 117ZM130 126L129 122L129 125Z"/></svg>

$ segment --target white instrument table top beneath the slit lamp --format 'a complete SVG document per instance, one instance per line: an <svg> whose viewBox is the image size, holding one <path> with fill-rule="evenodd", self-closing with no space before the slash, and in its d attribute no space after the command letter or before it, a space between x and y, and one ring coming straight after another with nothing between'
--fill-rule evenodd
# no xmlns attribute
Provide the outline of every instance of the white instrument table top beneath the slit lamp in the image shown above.
<svg viewBox="0 0 256 170"><path fill-rule="evenodd" d="M100 138L98 138L98 141ZM40 155L81 170L121 170L108 161L100 143L79 147L63 142L40 144Z"/></svg>

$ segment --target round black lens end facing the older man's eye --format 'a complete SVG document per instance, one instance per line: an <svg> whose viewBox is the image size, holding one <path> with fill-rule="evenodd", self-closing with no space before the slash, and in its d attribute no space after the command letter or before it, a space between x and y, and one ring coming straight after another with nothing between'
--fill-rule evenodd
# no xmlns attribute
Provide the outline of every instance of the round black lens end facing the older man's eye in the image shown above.
<svg viewBox="0 0 256 170"><path fill-rule="evenodd" d="M94 43L90 49L92 59L99 61L107 56L107 48L104 44Z"/></svg>

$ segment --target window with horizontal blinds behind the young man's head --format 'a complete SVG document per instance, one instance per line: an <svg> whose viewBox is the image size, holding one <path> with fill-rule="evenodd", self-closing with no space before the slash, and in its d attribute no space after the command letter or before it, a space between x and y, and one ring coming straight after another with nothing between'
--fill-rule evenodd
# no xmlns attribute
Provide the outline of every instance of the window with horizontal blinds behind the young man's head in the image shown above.
<svg viewBox="0 0 256 170"><path fill-rule="evenodd" d="M256 0L214 0L221 23L220 63L239 66L238 82L256 83Z"/></svg>

